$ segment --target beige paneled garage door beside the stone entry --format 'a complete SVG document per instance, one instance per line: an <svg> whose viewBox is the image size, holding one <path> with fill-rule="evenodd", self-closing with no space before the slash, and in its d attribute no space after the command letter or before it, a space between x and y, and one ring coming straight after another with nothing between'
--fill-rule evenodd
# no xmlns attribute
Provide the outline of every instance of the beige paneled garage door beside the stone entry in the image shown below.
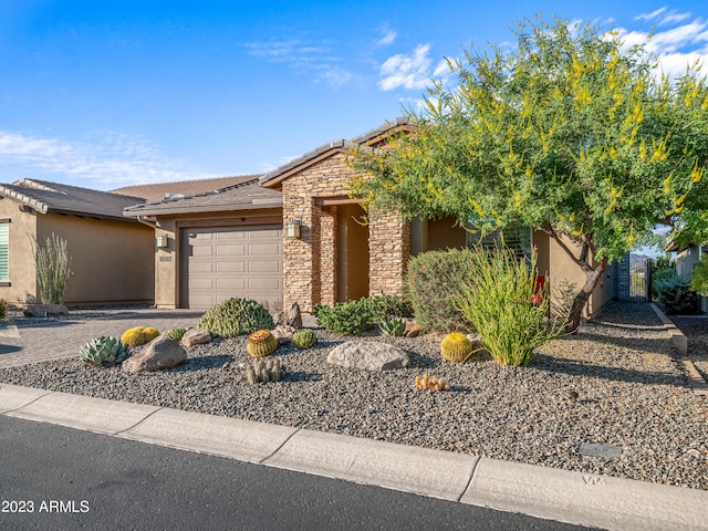
<svg viewBox="0 0 708 531"><path fill-rule="evenodd" d="M183 308L239 296L282 310L282 226L191 228L180 237Z"/></svg>

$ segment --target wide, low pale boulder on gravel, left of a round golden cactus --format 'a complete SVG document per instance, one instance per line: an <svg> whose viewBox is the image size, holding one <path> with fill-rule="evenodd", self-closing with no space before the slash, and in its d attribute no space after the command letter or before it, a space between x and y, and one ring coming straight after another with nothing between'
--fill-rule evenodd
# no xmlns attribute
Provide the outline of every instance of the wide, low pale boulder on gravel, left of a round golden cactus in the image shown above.
<svg viewBox="0 0 708 531"><path fill-rule="evenodd" d="M410 365L410 358L397 346L377 341L347 341L335 346L327 363L345 368L393 371Z"/></svg>

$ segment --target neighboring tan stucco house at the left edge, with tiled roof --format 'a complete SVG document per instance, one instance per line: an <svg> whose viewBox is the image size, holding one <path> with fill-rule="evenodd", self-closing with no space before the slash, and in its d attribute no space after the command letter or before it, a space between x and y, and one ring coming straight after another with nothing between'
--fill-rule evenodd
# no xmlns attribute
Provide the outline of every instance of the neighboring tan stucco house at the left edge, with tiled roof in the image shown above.
<svg viewBox="0 0 708 531"><path fill-rule="evenodd" d="M52 233L71 257L67 304L154 298L154 231L123 209L140 197L21 179L0 185L0 298L39 299L33 242Z"/></svg>

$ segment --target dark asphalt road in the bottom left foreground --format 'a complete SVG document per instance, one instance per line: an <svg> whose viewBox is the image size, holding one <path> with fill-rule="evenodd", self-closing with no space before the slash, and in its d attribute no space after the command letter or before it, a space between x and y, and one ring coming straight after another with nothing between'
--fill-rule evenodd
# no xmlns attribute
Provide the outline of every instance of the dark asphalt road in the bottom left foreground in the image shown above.
<svg viewBox="0 0 708 531"><path fill-rule="evenodd" d="M0 416L0 529L586 528Z"/></svg>

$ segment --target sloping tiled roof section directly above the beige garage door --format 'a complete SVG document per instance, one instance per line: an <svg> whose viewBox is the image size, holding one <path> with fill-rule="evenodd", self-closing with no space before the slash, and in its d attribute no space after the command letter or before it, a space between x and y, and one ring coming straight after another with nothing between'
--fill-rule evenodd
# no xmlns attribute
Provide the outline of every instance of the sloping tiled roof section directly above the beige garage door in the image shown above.
<svg viewBox="0 0 708 531"><path fill-rule="evenodd" d="M261 188L258 177L218 190L192 196L168 197L162 201L146 202L126 208L125 216L166 216L175 214L218 212L282 207L282 195Z"/></svg>

